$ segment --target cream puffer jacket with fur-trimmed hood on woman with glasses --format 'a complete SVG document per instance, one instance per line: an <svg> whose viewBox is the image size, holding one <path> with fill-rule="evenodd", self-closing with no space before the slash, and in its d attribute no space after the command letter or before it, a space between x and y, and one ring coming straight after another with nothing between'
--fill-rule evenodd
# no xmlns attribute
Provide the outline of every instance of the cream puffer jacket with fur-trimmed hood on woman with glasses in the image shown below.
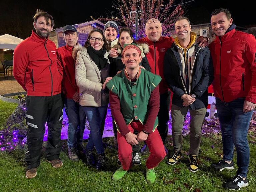
<svg viewBox="0 0 256 192"><path fill-rule="evenodd" d="M106 52L104 58L108 58ZM73 48L72 56L76 59L75 77L79 87L79 104L87 107L100 107L109 102L108 89L102 90L102 85L109 76L109 61L105 68L99 70L87 53L87 49L81 45Z"/></svg>

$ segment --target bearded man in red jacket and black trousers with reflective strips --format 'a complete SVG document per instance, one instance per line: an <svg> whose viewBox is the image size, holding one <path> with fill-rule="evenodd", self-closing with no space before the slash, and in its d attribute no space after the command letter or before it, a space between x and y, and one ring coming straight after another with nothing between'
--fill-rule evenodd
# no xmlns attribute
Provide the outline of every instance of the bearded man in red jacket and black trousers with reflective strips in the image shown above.
<svg viewBox="0 0 256 192"><path fill-rule="evenodd" d="M62 76L57 66L56 46L48 39L53 26L53 17L37 10L32 35L22 41L14 51L13 75L27 91L26 178L33 178L37 174L46 122L49 133L46 158L54 168L62 166L59 158L63 117Z"/></svg>

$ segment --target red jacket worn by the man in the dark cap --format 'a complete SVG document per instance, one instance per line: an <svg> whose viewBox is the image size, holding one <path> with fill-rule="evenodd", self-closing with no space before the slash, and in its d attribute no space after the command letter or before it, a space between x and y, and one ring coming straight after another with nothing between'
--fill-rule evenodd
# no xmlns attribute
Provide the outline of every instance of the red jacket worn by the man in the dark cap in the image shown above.
<svg viewBox="0 0 256 192"><path fill-rule="evenodd" d="M63 68L62 91L67 99L79 92L75 79L75 64L72 57L73 47L65 45L57 49L57 62Z"/></svg>

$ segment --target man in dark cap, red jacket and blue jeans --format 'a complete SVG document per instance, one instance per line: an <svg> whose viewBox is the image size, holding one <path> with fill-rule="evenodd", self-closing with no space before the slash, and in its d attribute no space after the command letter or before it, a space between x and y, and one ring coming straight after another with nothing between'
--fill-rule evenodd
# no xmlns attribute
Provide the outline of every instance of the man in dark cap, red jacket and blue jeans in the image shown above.
<svg viewBox="0 0 256 192"><path fill-rule="evenodd" d="M72 57L72 50L77 44L78 33L74 26L66 25L62 34L66 45L57 49L57 62L63 68L62 92L64 94L64 108L68 117L68 155L70 160L78 161L78 154L85 153L82 148L85 113L79 105L79 88L76 84L75 61Z"/></svg>

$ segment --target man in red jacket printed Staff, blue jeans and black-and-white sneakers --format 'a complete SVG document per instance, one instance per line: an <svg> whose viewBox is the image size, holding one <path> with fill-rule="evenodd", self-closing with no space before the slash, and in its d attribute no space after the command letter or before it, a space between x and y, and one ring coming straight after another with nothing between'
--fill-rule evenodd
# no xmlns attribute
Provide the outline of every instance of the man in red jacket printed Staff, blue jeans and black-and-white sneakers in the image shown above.
<svg viewBox="0 0 256 192"><path fill-rule="evenodd" d="M235 30L227 9L212 13L216 35L209 48L213 59L213 88L220 119L223 159L211 165L222 171L234 169L234 145L237 151L237 175L226 183L228 189L248 185L250 150L247 141L249 123L256 103L256 40L251 34Z"/></svg>

